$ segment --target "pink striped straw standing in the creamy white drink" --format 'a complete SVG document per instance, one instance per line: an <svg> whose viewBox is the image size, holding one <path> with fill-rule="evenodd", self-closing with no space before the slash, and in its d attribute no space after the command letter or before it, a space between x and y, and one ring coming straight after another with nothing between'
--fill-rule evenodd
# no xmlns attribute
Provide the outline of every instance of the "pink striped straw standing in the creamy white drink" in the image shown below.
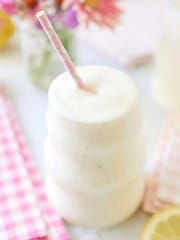
<svg viewBox="0 0 180 240"><path fill-rule="evenodd" d="M47 34L50 42L52 43L54 49L56 50L58 56L62 60L66 70L70 73L72 78L75 80L76 85L79 88L86 90L86 87L85 87L81 77L77 73L74 63L72 62L69 54L67 53L61 40L59 39L57 33L55 32L55 29L52 26L47 14L44 11L40 11L36 14L36 17L38 18L39 22L41 23L43 30Z"/></svg>

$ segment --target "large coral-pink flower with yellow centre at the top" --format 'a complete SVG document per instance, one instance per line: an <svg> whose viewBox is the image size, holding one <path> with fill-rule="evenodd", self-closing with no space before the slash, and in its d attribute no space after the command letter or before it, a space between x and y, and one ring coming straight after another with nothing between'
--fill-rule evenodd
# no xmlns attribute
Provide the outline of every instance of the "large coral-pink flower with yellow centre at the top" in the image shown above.
<svg viewBox="0 0 180 240"><path fill-rule="evenodd" d="M67 0L66 7L73 6L78 16L86 24L94 22L113 29L119 21L122 9L119 0Z"/></svg>

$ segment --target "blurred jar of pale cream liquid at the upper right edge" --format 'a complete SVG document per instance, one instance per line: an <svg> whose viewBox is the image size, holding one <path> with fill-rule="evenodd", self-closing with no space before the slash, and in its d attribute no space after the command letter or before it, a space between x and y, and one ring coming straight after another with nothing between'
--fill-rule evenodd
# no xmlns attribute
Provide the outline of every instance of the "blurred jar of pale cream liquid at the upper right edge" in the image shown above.
<svg viewBox="0 0 180 240"><path fill-rule="evenodd" d="M167 111L180 113L180 0L169 0L155 63L154 97Z"/></svg>

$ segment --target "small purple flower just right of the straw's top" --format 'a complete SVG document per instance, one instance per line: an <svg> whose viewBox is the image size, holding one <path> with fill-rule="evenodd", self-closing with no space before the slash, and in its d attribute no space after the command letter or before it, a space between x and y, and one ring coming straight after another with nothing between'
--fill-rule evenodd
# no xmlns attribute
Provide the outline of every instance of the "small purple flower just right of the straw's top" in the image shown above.
<svg viewBox="0 0 180 240"><path fill-rule="evenodd" d="M61 21L62 24L67 28L75 28L79 25L77 14L72 7L64 12Z"/></svg>

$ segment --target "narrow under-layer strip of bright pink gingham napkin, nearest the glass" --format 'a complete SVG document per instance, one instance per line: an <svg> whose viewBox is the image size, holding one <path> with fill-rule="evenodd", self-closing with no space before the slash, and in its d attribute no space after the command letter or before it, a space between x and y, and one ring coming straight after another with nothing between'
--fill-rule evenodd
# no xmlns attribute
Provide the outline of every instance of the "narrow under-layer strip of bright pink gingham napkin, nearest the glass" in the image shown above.
<svg viewBox="0 0 180 240"><path fill-rule="evenodd" d="M14 133L18 141L19 149L23 156L29 176L31 177L37 199L40 203L39 207L42 212L42 217L47 225L47 236L43 240L69 240L69 236L65 229L63 221L59 218L55 210L49 204L49 201L45 194L43 182L36 169L34 161L32 161L31 155L27 149L17 122L14 122Z"/></svg>

